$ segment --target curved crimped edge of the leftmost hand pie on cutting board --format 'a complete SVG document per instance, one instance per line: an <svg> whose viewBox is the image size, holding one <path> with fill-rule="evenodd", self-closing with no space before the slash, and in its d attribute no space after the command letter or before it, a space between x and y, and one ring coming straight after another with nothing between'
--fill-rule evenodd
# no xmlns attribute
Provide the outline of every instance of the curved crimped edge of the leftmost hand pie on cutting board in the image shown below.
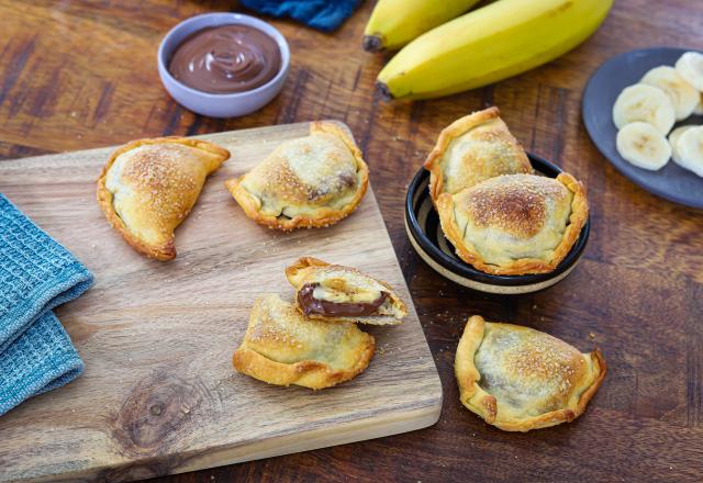
<svg viewBox="0 0 703 483"><path fill-rule="evenodd" d="M112 155L110 156L110 159L108 160L105 166L102 168L100 178L98 178L98 190L97 190L98 203L100 204L100 207L102 209L102 212L108 218L108 222L110 223L110 225L114 229L116 229L120 233L120 235L122 235L122 238L124 238L124 240L132 248L134 248L136 251L138 251L142 255L146 255L147 257L150 257L160 261L172 260L174 258L176 258L176 243L174 242L174 237L171 236L171 238L164 245L154 246L145 243L140 237L132 234L132 232L130 232L130 229L126 227L122 218L114 211L114 206L112 205L113 196L112 196L112 193L105 187L105 182L107 182L108 171L112 167L113 162L118 159L118 157L140 146L146 146L152 144L164 144L164 143L182 144L185 146L190 146L197 149L202 149L208 153L212 153L214 155L221 156L223 158L222 161L220 162L221 165L222 162L226 161L230 158L230 151L221 146L217 146L216 144L210 143L208 141L193 139L193 138L179 137L179 136L135 139L125 144L124 146L119 147L114 153L112 153ZM186 213L186 216L188 216L188 213Z"/></svg>

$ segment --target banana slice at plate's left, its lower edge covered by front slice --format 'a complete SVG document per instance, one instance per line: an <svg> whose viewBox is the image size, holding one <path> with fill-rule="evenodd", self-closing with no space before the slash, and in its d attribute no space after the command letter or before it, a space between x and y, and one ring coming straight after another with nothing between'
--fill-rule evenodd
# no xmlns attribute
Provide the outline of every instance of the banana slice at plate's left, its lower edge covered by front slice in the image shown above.
<svg viewBox="0 0 703 483"><path fill-rule="evenodd" d="M613 122L621 130L636 121L651 124L666 136L676 122L671 100L657 87L644 83L626 87L613 105Z"/></svg>

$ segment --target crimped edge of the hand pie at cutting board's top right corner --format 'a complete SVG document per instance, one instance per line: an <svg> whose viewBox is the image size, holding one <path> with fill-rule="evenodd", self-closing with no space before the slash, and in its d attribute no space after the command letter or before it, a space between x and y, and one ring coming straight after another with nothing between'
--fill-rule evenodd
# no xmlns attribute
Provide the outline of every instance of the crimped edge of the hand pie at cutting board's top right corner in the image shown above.
<svg viewBox="0 0 703 483"><path fill-rule="evenodd" d="M322 213L321 217L311 218L309 216L297 215L293 218L281 220L278 216L263 215L259 212L259 201L249 193L244 187L242 181L246 173L238 178L233 178L224 182L226 189L230 191L235 201L242 206L244 213L250 220L256 223L268 226L272 229L281 229L283 232L290 232L295 228L322 228L333 225L341 220L344 220L350 215L361 202L361 199L366 194L366 190L369 184L369 168L364 161L361 150L357 147L356 143L346 134L344 130L330 122L315 121L310 125L310 134L314 133L327 133L337 136L344 145L349 149L352 156L356 160L357 171L361 175L359 187L352 199L352 201L345 205L342 210L333 210L327 206L320 206L319 212Z"/></svg>

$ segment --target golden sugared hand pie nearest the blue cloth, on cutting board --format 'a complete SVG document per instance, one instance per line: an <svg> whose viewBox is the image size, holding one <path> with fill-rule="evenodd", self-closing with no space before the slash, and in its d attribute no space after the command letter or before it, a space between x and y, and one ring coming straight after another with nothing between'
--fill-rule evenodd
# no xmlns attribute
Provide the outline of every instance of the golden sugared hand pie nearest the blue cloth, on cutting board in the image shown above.
<svg viewBox="0 0 703 483"><path fill-rule="evenodd" d="M174 231L196 204L208 175L228 157L228 150L200 139L133 141L102 169L98 202L135 250L170 260L176 257Z"/></svg>

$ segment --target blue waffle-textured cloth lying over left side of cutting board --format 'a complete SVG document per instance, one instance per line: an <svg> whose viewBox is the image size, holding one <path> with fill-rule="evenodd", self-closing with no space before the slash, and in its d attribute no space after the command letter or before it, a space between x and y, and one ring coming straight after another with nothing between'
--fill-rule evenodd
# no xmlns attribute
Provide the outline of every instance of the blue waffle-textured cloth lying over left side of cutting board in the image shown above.
<svg viewBox="0 0 703 483"><path fill-rule="evenodd" d="M83 371L52 308L92 274L0 193L0 415Z"/></svg>

